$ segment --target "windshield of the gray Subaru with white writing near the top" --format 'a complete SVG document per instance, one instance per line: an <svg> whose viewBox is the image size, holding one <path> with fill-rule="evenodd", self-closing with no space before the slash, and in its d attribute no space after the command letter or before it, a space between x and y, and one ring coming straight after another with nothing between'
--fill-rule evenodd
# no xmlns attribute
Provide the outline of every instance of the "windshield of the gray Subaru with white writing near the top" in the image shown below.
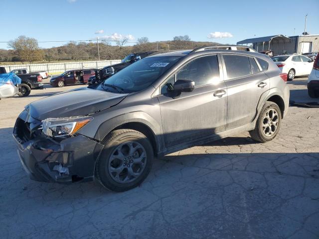
<svg viewBox="0 0 319 239"><path fill-rule="evenodd" d="M132 93L144 90L171 68L180 57L144 58L106 79L97 90ZM119 90L120 89L120 90Z"/></svg>

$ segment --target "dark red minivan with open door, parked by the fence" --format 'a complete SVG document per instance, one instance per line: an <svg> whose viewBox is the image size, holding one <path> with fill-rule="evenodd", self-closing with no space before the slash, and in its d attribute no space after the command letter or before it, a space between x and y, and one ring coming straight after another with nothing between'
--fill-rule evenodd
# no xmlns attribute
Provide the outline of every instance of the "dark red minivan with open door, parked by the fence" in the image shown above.
<svg viewBox="0 0 319 239"><path fill-rule="evenodd" d="M59 76L50 79L50 85L54 87L63 87L65 85L73 85L75 83L87 84L91 76L95 75L96 69L78 69L70 70Z"/></svg>

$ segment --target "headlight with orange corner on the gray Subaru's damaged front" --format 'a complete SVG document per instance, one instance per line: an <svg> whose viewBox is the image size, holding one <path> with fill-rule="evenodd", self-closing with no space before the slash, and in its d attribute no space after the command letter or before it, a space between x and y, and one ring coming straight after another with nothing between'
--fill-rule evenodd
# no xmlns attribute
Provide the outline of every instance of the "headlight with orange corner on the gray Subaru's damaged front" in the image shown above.
<svg viewBox="0 0 319 239"><path fill-rule="evenodd" d="M93 117L89 116L44 119L42 132L51 137L72 135L92 119Z"/></svg>

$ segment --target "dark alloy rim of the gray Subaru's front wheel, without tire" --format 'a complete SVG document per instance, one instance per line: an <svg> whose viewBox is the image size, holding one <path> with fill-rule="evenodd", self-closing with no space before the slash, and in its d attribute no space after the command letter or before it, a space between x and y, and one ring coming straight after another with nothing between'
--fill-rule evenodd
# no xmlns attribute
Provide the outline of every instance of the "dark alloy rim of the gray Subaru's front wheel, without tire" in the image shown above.
<svg viewBox="0 0 319 239"><path fill-rule="evenodd" d="M143 173L147 161L146 150L136 141L128 141L115 148L109 160L108 171L118 183L135 181Z"/></svg>

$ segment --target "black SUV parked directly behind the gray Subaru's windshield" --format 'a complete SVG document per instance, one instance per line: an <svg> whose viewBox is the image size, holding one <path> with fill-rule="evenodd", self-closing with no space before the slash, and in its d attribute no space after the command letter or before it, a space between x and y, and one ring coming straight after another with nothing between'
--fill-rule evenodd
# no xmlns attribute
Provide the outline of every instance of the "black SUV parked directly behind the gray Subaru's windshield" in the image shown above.
<svg viewBox="0 0 319 239"><path fill-rule="evenodd" d="M137 52L137 53L132 53L128 56L126 56L121 63L111 65L111 66L106 66L102 69L99 69L95 72L95 81L92 81L92 83L99 83L110 76L114 75L115 73L121 71L125 67L131 65L134 62L137 62L138 60L141 60L156 51L145 51L145 52Z"/></svg>

